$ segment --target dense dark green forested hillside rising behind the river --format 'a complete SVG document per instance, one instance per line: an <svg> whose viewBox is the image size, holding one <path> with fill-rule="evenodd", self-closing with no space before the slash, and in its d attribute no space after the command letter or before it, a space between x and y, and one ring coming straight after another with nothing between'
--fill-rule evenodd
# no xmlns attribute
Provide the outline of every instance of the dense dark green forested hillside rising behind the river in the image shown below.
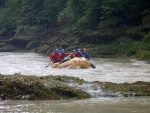
<svg viewBox="0 0 150 113"><path fill-rule="evenodd" d="M0 0L0 51L54 46L150 59L150 1Z"/></svg>

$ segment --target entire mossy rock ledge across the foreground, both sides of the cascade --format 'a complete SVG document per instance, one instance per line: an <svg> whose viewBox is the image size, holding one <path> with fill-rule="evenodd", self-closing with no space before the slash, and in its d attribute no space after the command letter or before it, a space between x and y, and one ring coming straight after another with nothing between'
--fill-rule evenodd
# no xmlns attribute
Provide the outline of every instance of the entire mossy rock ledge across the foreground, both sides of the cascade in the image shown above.
<svg viewBox="0 0 150 113"><path fill-rule="evenodd" d="M102 97L150 96L150 82L135 83L87 82L69 76L0 75L1 100L60 100L92 98L82 85L88 84Z"/></svg>

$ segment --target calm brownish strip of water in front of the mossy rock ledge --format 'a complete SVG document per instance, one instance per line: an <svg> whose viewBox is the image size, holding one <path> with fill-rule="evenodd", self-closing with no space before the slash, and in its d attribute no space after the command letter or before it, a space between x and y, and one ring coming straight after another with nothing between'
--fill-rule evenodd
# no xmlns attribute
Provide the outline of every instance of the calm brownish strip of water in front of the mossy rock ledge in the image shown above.
<svg viewBox="0 0 150 113"><path fill-rule="evenodd" d="M36 113L149 113L150 98L2 101L1 112Z"/></svg>

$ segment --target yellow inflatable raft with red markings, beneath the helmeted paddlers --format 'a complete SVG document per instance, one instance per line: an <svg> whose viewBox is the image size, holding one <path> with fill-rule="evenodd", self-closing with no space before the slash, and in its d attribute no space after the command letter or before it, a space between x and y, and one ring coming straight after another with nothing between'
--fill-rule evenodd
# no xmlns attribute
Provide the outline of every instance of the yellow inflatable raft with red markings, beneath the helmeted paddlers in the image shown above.
<svg viewBox="0 0 150 113"><path fill-rule="evenodd" d="M53 68L69 68L69 69L75 69L75 68L82 68L82 69L88 69L90 68L89 61L84 57L75 57L73 59L70 59L64 63L51 63L51 66Z"/></svg>

